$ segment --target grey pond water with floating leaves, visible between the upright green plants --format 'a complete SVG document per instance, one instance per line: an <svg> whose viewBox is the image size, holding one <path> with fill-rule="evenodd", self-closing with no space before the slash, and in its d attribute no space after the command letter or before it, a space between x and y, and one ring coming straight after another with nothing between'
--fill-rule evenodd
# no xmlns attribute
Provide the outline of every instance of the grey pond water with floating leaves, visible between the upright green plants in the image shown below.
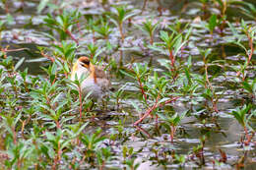
<svg viewBox="0 0 256 170"><path fill-rule="evenodd" d="M126 2L110 1L110 3L125 4ZM143 1L130 1L127 3L129 4L128 8L131 9L140 11L143 7ZM251 1L251 3L254 2ZM44 79L47 79L48 76L41 67L48 68L51 62L40 54L37 46L51 49L52 43L60 44L60 42L52 40L43 33L49 33L49 28L43 25L44 22L42 19L46 17L47 11L51 11L50 7L47 7L49 9L44 9L41 14L37 14L37 1L25 1L23 11L18 11L21 6L20 1L10 1L8 4L9 12L12 14L13 20L9 21L10 23L1 32L2 48L9 45L8 49L19 49L17 51L7 52L7 56L12 56L15 63L21 58L25 58L19 70L24 71L28 68L29 75L31 75L32 78L40 75ZM98 18L102 14L102 10L104 10L96 1L74 1L66 5L67 10L75 7L77 7L82 15L96 18ZM160 10L158 11L158 8L161 9L161 12ZM209 11L207 11L209 14L206 14L207 18L209 18L209 15L211 16L213 11L218 10L214 6L209 8ZM236 14L238 9L238 5L230 4L226 12L227 20L236 28L240 27L240 24L236 21L238 19L240 21L240 18L244 17L241 12L237 12ZM51 11L51 13L53 14L54 10ZM0 11L0 14L0 18L6 20L7 15L3 9ZM54 15L57 14L56 12ZM142 14L135 15L130 20L130 24L128 24L128 22L125 23L124 30L126 37L122 47L124 67L130 69L135 66L135 63L141 63L143 65L151 63L152 70L158 72L160 75L168 73L168 70L160 63L160 59L168 59L168 56L163 54L163 51L159 52L152 50L152 48L147 48L145 43L149 44L149 37L145 35L138 26L141 26L142 22L145 22L146 19L152 20L155 23L159 22L159 28L157 28L154 37L154 40L158 42L160 41L160 30L167 30L169 25L173 25L177 21L181 23L182 27L189 24L189 26L193 28L188 43L181 49L182 52L177 54L176 62L179 66L186 66L188 64L188 58L191 56L191 74L197 74L203 77L205 74L205 65L199 49L212 49L211 55L208 58L208 72L211 78L211 85L215 89L216 95L219 96L217 102L218 112L210 109L213 104L210 99L205 100L202 96L203 90L196 90L193 97L190 98L189 95L180 94L181 87L178 85L182 85L182 82L177 86L173 85L177 91L171 91L171 94L175 96L175 93L177 93L178 99L154 112L155 115L157 112L160 114L171 115L177 113L180 115L189 110L187 115L177 125L174 140L170 142L169 130L161 124L164 122L161 119L158 120L157 124L155 117L149 116L149 118L145 119L138 126L134 126L134 123L147 111L149 105L154 102L151 102L148 106L143 104L142 100L137 96L137 94L141 92L137 81L127 76L120 76L120 73L110 68L108 71L111 73L110 77L115 91L125 85L123 86L123 98L120 98L118 108L116 98L113 97L112 94L108 101L107 111L102 111L99 104L96 104L93 111L84 111L85 115L89 116L91 122L83 131L84 134L94 134L96 128L100 127L102 130L101 135L106 137L106 140L100 144L102 147L109 146L111 149L112 158L106 161L105 168L121 169L127 167L127 165L123 163L123 159L125 159L123 157L123 147L127 146L128 148L134 148L134 153L129 155L130 157L127 157L131 159L134 158L135 162L140 163L138 169L141 170L198 168L234 169L237 168L238 164L241 162L244 165L244 169L255 169L256 137L252 136L251 142L248 145L244 145L242 142L245 138L244 128L234 119L233 115L231 115L236 107L241 108L244 104L249 103L251 103L252 110L255 112L255 93L254 98L249 97L249 94L241 88L239 81L234 81L237 72L235 72L233 68L239 68L239 64L243 64L246 57L241 54L243 52L241 47L230 43L229 39L232 38L230 28L226 26L224 28L224 35L222 36L219 33L219 28L216 28L214 33L211 34L209 29L206 28L206 24L202 24L205 22L203 15L201 4L196 0L191 2L186 0L178 2L170 2L168 0L147 2L145 11ZM202 23L195 22L198 16L201 17L200 22ZM251 24L252 26L256 25L255 20L253 21L246 17L244 17L244 20L247 24ZM93 37L92 32L86 30L87 24L85 24L84 18L81 18L81 25L84 25L81 27L84 29L74 32L75 37L78 37L81 42L76 51L76 54L79 55L88 53L86 44L92 42ZM118 40L120 37L118 28L113 24L109 25L112 28L112 32L109 35L109 42L112 44L120 43L120 40ZM188 28L184 30L184 32L186 31L188 31ZM56 37L56 39L58 39L58 37ZM242 43L247 45L245 39L242 40ZM99 47L103 46L101 41L99 41L98 44ZM116 61L119 60L120 51L118 48L113 47L111 54L105 51L102 52L101 57L108 56ZM47 55L53 54L52 51L46 51L46 53ZM256 53L254 52L251 63L246 70L246 78L249 83L255 80L255 56ZM63 72L60 73L60 75L58 79L63 79ZM197 82L195 81L194 83ZM40 87L40 85L37 86ZM28 97L31 98L30 94ZM29 103L24 107L30 107L30 104L32 104L27 101L28 97L25 97L24 101L22 97L19 98L19 102ZM1 101L1 104L2 103L3 101ZM136 109L135 105L139 108ZM4 104L2 104L0 111L7 113L8 109L4 108ZM76 108L71 112L77 116L79 115ZM24 117L26 118L26 116ZM92 117L93 121L91 121ZM36 118L32 116L32 119L34 119L33 121L35 122L46 122L45 125L49 123L39 117ZM78 122L78 119L73 118L67 123L67 126L69 124L75 124L76 122ZM65 126L65 124L63 126ZM32 129L32 127L32 122L28 123L25 127L28 136L30 136L30 129ZM255 117L251 118L250 127L255 130ZM3 130L3 127L0 130ZM54 129L49 128L48 131L54 132ZM252 131L250 131L250 133L252 133ZM2 137L6 137L4 131L1 134ZM22 137L19 138L22 139ZM71 149L67 155L70 155L70 157L76 156L80 147L83 146L78 146L78 148L74 147L74 150L77 150L73 152ZM182 156L184 157L184 161L181 160ZM12 158L12 156L9 156L9 158L10 157ZM224 157L226 158L225 161L222 160ZM63 158L60 164L65 165L66 160L66 158ZM86 164L82 165L80 168L83 169L84 166L89 167L89 165ZM67 165L64 166L64 169L65 167L67 167ZM50 168L50 165L47 168ZM240 167L237 169L239 168ZM61 166L59 166L59 169L62 169Z"/></svg>

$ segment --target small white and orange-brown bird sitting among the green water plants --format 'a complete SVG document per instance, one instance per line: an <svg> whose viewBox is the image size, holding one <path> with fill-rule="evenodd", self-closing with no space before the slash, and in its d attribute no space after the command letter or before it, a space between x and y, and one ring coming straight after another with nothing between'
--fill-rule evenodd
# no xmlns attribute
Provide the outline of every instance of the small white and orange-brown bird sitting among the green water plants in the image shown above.
<svg viewBox="0 0 256 170"><path fill-rule="evenodd" d="M103 69L91 63L88 57L80 57L73 65L71 81L76 77L80 80L85 75L85 80L81 83L82 93L85 96L91 92L90 97L101 99L109 89L110 81Z"/></svg>

